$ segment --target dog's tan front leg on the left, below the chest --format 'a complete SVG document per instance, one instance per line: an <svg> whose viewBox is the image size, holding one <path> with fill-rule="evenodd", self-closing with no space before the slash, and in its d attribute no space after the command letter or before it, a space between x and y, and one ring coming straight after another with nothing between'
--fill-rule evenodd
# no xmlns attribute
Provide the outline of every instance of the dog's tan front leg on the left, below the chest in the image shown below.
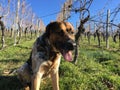
<svg viewBox="0 0 120 90"><path fill-rule="evenodd" d="M36 74L33 74L31 90L39 90L42 76L43 76L43 74L40 73L40 72L37 72Z"/></svg>

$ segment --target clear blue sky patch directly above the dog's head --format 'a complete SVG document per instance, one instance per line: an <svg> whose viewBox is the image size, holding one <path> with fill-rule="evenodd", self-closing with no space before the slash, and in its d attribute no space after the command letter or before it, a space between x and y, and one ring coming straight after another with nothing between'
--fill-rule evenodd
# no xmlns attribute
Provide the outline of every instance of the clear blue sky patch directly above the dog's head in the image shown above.
<svg viewBox="0 0 120 90"><path fill-rule="evenodd" d="M56 20L56 15L44 17L49 14L60 11L61 5L65 0L27 0L31 3L33 11L39 16L45 24L48 24L52 20Z"/></svg>

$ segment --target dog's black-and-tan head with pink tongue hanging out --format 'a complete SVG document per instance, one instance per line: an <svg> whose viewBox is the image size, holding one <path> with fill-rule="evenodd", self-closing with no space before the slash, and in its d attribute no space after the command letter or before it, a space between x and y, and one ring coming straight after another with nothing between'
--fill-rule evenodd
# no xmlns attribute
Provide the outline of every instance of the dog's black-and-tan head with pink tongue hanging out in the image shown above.
<svg viewBox="0 0 120 90"><path fill-rule="evenodd" d="M69 22L51 22L46 27L46 35L54 47L65 60L72 61L72 51L76 46L74 28Z"/></svg>

